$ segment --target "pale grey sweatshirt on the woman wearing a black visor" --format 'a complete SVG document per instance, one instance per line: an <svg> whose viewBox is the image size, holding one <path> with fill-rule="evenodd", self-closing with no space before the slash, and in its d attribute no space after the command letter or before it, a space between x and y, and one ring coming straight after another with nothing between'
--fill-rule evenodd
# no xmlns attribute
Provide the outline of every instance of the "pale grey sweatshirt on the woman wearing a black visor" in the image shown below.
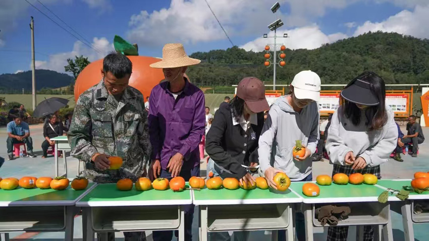
<svg viewBox="0 0 429 241"><path fill-rule="evenodd" d="M326 141L326 150L331 162L345 165L344 157L349 151L352 151L354 156L365 159L369 167L387 162L397 144L398 128L394 113L387 105L386 111L388 114L386 125L381 130L368 131L363 110L359 125L354 126L350 119L341 114L340 106L332 116Z"/></svg>

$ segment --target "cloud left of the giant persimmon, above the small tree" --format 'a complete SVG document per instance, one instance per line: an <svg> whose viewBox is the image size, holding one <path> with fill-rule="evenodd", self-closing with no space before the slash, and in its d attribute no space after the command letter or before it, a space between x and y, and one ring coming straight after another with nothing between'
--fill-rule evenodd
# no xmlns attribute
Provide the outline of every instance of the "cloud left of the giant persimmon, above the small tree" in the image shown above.
<svg viewBox="0 0 429 241"><path fill-rule="evenodd" d="M98 53L92 48L84 45L80 41L76 41L73 46L73 50L70 52L56 53L49 55L49 59L47 61L35 61L36 69L45 69L45 70L53 70L57 72L64 73L64 66L67 65L67 58L74 59L75 56L83 55L84 57L88 57L89 61L95 61L97 59L103 58L110 51L114 50L113 44L109 43L109 41L102 38L94 38L92 45L94 48L99 50L101 53ZM31 68L31 63L30 63Z"/></svg>

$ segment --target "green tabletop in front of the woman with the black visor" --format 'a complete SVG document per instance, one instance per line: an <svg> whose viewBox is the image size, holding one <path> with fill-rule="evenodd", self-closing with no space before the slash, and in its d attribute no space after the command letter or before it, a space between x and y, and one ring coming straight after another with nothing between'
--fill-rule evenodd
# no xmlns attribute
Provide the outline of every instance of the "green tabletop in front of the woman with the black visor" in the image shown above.
<svg viewBox="0 0 429 241"><path fill-rule="evenodd" d="M320 194L317 197L307 197L302 194L302 186L307 182L293 182L290 186L303 198L304 203L326 203L326 202L376 202L380 194L385 191L374 185L337 185L319 186ZM314 182L313 182L314 183ZM316 184L317 185L317 184Z"/></svg>

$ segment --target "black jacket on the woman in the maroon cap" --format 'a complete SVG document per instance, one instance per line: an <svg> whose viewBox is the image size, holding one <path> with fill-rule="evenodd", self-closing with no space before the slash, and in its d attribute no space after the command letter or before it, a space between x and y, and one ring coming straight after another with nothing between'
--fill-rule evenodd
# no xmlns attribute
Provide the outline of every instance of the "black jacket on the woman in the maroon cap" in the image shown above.
<svg viewBox="0 0 429 241"><path fill-rule="evenodd" d="M247 171L241 165L258 162L258 140L263 127L263 112L257 113L257 125L244 132L240 125L233 126L230 108L220 108L205 139L205 151L216 164L231 171L222 177L243 177Z"/></svg>

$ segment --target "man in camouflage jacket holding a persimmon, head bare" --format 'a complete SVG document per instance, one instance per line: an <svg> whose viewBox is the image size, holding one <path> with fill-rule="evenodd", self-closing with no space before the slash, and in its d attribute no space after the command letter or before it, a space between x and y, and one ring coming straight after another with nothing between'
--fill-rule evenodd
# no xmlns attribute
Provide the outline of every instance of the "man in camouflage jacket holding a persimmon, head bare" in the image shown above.
<svg viewBox="0 0 429 241"><path fill-rule="evenodd" d="M68 132L71 155L86 162L84 175L96 183L133 182L146 176L151 154L147 111L143 95L128 86L131 61L112 53L103 60L103 79L79 96ZM123 165L109 170L109 156L120 156ZM145 232L124 232L126 241L145 241ZM97 240L100 240L97 233ZM108 233L115 240L115 233Z"/></svg>

